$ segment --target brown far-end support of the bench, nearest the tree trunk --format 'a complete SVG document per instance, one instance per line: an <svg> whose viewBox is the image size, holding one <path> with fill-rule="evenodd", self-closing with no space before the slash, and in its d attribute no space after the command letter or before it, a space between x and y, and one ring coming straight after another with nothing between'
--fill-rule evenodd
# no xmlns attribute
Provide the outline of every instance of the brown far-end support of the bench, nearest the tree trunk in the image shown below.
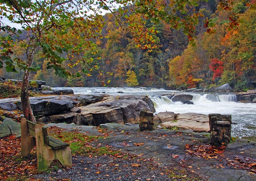
<svg viewBox="0 0 256 181"><path fill-rule="evenodd" d="M35 138L28 135L28 127L26 118L21 118L21 155L27 156L35 146Z"/></svg>

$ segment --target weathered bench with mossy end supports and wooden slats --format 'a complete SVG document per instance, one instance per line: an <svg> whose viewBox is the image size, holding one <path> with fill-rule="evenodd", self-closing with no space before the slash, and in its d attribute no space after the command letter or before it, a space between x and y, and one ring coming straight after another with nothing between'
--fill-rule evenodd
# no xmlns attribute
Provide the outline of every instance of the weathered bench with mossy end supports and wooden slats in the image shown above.
<svg viewBox="0 0 256 181"><path fill-rule="evenodd" d="M49 136L46 127L30 122L26 118L22 118L20 124L21 155L27 156L36 146L38 173L48 170L54 159L64 167L72 167L69 144Z"/></svg>

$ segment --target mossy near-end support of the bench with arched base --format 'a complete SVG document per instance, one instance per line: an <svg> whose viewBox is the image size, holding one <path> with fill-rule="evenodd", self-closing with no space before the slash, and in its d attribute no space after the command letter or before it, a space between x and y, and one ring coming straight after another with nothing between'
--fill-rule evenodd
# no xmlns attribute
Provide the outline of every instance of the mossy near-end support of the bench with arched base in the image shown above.
<svg viewBox="0 0 256 181"><path fill-rule="evenodd" d="M48 170L54 159L57 159L64 167L72 167L70 147L52 150L45 144L41 125L35 126L36 145L37 145L37 170L38 173Z"/></svg>

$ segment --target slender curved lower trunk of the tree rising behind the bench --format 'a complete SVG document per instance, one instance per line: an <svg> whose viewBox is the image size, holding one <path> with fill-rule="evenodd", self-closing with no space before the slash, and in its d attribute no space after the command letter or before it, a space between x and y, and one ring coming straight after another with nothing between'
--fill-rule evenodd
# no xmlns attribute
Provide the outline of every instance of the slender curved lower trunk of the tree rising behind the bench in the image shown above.
<svg viewBox="0 0 256 181"><path fill-rule="evenodd" d="M27 63L28 67L32 66L33 55L34 54L29 54L28 55L28 63ZM33 111L32 111L31 105L30 105L30 101L29 101L29 91L28 91L29 77L30 77L30 70L25 70L24 75L23 75L23 79L22 79L20 99L21 99L21 105L22 105L22 110L23 110L24 117L27 120L30 120L32 122L36 122L35 116L33 115Z"/></svg>

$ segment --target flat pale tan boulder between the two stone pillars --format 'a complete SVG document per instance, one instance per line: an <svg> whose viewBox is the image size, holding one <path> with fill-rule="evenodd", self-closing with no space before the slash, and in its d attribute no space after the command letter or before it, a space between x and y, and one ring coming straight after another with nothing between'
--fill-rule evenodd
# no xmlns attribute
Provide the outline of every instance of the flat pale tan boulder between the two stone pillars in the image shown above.
<svg viewBox="0 0 256 181"><path fill-rule="evenodd" d="M198 113L179 114L177 121L168 121L160 124L164 128L178 127L182 130L192 130L195 132L210 132L209 118L207 115Z"/></svg>

